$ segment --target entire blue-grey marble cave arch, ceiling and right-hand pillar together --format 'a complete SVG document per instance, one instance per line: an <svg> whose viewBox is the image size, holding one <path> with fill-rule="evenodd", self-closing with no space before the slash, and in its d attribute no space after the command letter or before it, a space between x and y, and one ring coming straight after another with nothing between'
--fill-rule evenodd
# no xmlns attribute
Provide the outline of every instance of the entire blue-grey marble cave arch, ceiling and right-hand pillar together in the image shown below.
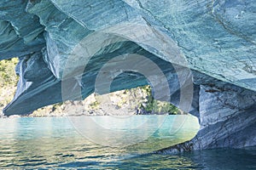
<svg viewBox="0 0 256 170"><path fill-rule="evenodd" d="M6 115L149 83L157 99L200 119L179 150L256 144L253 0L0 5L0 59L20 57Z"/></svg>

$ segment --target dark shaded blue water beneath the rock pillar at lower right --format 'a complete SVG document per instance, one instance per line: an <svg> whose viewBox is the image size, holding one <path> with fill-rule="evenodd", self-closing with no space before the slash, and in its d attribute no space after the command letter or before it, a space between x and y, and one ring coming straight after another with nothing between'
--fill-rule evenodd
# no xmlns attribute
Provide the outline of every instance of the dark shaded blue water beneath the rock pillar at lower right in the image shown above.
<svg viewBox="0 0 256 170"><path fill-rule="evenodd" d="M256 147L197 150L180 155L144 155L120 161L120 169L256 169Z"/></svg>

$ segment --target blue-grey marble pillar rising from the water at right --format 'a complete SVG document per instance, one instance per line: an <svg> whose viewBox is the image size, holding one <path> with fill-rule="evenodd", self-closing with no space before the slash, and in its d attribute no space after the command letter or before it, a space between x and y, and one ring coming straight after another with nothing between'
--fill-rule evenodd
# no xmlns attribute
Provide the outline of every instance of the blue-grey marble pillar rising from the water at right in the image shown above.
<svg viewBox="0 0 256 170"><path fill-rule="evenodd" d="M201 128L195 138L157 152L241 148L256 144L256 93L224 82L217 84L201 85Z"/></svg>

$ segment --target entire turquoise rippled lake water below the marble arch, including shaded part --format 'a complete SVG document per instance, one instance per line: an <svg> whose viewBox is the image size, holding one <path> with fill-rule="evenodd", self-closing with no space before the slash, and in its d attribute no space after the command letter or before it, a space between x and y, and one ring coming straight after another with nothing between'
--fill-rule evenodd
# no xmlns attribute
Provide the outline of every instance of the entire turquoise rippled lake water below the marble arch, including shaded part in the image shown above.
<svg viewBox="0 0 256 170"><path fill-rule="evenodd" d="M193 116L0 119L0 168L256 169L256 148L150 153L198 128Z"/></svg>

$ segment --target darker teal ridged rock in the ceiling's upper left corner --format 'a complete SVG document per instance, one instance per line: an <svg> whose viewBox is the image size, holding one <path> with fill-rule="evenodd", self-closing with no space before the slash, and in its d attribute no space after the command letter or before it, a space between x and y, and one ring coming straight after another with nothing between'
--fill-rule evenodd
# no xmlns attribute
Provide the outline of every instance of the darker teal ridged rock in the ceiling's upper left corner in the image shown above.
<svg viewBox="0 0 256 170"><path fill-rule="evenodd" d="M44 26L38 16L26 13L26 1L0 2L0 59L31 54L43 48Z"/></svg>

